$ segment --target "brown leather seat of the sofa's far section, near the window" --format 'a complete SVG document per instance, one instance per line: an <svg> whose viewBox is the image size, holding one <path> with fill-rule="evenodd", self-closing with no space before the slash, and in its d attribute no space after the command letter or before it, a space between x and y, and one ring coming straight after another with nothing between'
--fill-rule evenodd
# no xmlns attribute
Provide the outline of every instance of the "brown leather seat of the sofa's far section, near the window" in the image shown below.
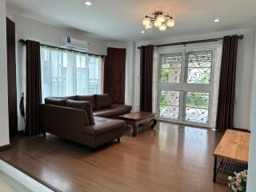
<svg viewBox="0 0 256 192"><path fill-rule="evenodd" d="M118 116L121 114L127 114L132 109L131 106L126 106L123 104L113 104L109 108L94 110L94 116L102 117L102 118L110 118L114 116Z"/></svg>

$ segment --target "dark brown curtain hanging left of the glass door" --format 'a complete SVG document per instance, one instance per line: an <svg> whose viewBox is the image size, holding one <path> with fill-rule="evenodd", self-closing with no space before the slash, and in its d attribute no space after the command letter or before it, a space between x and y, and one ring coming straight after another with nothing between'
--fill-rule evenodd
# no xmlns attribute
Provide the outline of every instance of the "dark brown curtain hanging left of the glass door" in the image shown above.
<svg viewBox="0 0 256 192"><path fill-rule="evenodd" d="M141 111L152 112L154 46L141 46Z"/></svg>

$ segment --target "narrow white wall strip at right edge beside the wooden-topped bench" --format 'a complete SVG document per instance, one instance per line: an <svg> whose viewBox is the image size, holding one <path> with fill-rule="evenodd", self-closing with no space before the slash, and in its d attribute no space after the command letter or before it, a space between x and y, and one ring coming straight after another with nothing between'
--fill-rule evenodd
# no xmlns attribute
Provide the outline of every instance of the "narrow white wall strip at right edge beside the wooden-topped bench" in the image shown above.
<svg viewBox="0 0 256 192"><path fill-rule="evenodd" d="M256 42L254 57L254 80L252 89L252 115L251 115L251 133L250 133L250 156L249 156L249 175L247 192L254 192L256 189Z"/></svg>

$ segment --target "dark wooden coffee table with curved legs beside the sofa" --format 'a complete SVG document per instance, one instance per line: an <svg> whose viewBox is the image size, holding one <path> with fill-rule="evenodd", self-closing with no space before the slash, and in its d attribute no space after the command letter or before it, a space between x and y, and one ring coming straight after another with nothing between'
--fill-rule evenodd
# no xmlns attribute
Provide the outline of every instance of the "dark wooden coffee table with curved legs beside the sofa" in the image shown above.
<svg viewBox="0 0 256 192"><path fill-rule="evenodd" d="M123 114L118 116L119 119L122 119L126 124L131 125L133 128L133 136L135 137L138 134L138 126L142 123L153 121L151 129L157 124L157 121L154 119L154 114L150 112L135 112L131 114Z"/></svg>

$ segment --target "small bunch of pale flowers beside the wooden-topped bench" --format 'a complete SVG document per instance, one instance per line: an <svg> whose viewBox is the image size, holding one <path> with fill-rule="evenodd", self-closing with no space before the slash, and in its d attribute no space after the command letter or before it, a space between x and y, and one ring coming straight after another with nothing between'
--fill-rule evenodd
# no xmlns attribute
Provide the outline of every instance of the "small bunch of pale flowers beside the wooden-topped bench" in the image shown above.
<svg viewBox="0 0 256 192"><path fill-rule="evenodd" d="M230 176L228 179L229 186L232 190L235 192L246 192L247 170L241 171L240 173L234 172L234 177Z"/></svg>

